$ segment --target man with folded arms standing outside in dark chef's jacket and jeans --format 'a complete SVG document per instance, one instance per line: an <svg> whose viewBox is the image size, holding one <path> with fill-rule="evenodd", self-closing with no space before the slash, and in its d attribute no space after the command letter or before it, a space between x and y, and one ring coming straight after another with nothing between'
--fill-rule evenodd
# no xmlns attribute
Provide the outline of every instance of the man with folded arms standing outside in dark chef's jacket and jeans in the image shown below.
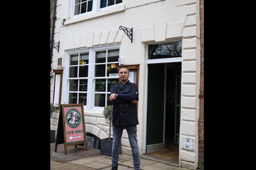
<svg viewBox="0 0 256 170"><path fill-rule="evenodd" d="M137 142L138 112L136 103L139 100L138 86L128 80L130 71L126 66L121 66L119 70L120 83L111 88L110 101L113 104L112 126L112 168L118 169L119 145L123 130L126 129L132 148L132 158L134 170L140 170L140 153Z"/></svg>

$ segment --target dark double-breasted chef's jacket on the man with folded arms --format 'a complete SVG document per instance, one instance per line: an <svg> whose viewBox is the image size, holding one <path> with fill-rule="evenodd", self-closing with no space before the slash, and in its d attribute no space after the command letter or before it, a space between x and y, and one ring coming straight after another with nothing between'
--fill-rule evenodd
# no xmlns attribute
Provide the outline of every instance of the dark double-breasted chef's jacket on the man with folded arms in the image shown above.
<svg viewBox="0 0 256 170"><path fill-rule="evenodd" d="M112 100L113 113L112 125L138 125L137 105L132 100L139 100L138 86L129 80L126 84L118 83L112 86L111 94L118 94L115 100Z"/></svg>

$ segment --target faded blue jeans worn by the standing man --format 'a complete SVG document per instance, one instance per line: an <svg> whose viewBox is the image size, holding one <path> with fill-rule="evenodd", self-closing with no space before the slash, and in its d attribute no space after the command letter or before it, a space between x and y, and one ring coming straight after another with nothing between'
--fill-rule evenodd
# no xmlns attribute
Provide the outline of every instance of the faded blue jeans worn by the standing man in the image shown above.
<svg viewBox="0 0 256 170"><path fill-rule="evenodd" d="M137 142L137 125L113 126L112 166L116 166L118 163L118 149L124 129L126 129L128 133L130 147L132 148L134 170L140 170L140 152Z"/></svg>

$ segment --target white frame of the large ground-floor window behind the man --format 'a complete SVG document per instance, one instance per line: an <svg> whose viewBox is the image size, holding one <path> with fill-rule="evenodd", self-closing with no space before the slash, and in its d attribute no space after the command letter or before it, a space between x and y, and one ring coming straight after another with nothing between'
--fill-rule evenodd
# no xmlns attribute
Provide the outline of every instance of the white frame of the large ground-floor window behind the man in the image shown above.
<svg viewBox="0 0 256 170"><path fill-rule="evenodd" d="M95 94L95 80L98 78L95 78L95 59L96 59L96 51L101 51L101 50L110 50L110 49L119 49L119 57L120 57L120 44L117 45L110 45L110 46L103 46L103 47L94 47L94 48L86 48L86 49L80 49L80 50L75 50L75 51L67 51L66 52L66 64L65 64L65 68L66 68L66 74L65 74L65 80L63 82L66 82L66 84L64 85L64 91L65 92L63 94L64 96L64 103L68 104L68 100L69 100L69 83L70 83L70 79L74 79L74 78L69 78L69 61L70 61L70 55L71 54L76 54L76 53L84 53L84 52L89 52L89 65L88 65L88 87L87 87L87 101L86 101L86 106L84 106L84 108L86 110L102 110L104 107L98 107L98 106L94 106L94 94ZM118 65L118 62L112 62L112 63L116 63ZM108 63L109 64L109 63ZM107 79L107 76L104 77L100 77L100 79ZM113 76L111 78L119 78L119 76ZM77 78L76 78L77 79ZM79 79L79 78L78 78ZM107 91L107 90L106 90ZM105 94L110 94L110 92L105 92Z"/></svg>

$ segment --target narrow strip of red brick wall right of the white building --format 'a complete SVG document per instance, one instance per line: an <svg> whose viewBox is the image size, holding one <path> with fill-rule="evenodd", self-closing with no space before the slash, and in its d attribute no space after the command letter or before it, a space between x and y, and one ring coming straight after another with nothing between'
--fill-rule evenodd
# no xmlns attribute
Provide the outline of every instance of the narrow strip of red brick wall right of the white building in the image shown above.
<svg viewBox="0 0 256 170"><path fill-rule="evenodd" d="M204 0L200 0L200 92L198 119L198 168L204 169Z"/></svg>

